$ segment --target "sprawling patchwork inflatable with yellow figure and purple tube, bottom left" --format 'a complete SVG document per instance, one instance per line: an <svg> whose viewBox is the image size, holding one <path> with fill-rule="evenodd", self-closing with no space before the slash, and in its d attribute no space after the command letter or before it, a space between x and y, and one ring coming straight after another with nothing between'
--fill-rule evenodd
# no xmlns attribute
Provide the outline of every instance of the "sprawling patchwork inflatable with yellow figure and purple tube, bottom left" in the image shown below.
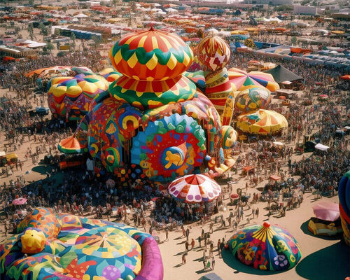
<svg viewBox="0 0 350 280"><path fill-rule="evenodd" d="M36 208L0 245L0 276L15 280L162 280L155 240L120 223Z"/></svg>

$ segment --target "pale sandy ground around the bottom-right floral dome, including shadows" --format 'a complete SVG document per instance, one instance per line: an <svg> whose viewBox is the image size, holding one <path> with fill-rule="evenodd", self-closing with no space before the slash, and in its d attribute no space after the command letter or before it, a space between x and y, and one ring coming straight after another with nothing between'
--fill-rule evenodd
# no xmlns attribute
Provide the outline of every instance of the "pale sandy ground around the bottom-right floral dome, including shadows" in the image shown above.
<svg viewBox="0 0 350 280"><path fill-rule="evenodd" d="M253 192L253 189L248 190L250 193ZM222 279L312 279L312 280L321 280L321 279L344 279L345 276L350 275L350 251L349 248L343 243L340 243L339 238L319 238L315 237L308 232L307 223L311 216L314 216L312 211L312 205L316 204L313 200L314 195L306 193L304 195L304 202L301 204L300 208L286 211L286 217L283 218L274 218L272 216L269 219L269 222L272 224L281 225L283 228L286 228L293 237L299 242L302 259L299 264L293 269L290 269L287 272L281 272L279 274L273 274L269 272L261 272L245 265L241 265L239 262L235 262L234 267L230 267L226 264L223 258L219 258L218 252L214 251L214 256L216 259L216 266L214 272L221 276ZM323 201L329 202L339 202L337 196L331 198L322 198ZM228 200L226 200L228 202ZM259 218L251 220L249 225L254 223L262 224L263 221L267 220L267 211L263 209L266 207L266 202L259 202L258 204L253 204L254 207L259 207L260 215ZM228 207L227 211L223 212L225 218L230 214L230 209L234 207ZM251 211L245 211L244 214L251 214ZM218 216L220 216L218 214ZM242 223L242 222L241 222ZM244 221L246 223L246 221ZM301 227L302 225L302 227ZM214 233L211 235L211 240L214 241L214 249L218 239L225 240L230 239L233 235L232 228L227 228L224 230L218 230L220 225L214 225ZM185 226L188 228L188 226ZM240 227L239 227L240 228ZM169 241L165 241L160 244L160 251L162 253L163 262L165 265L165 279L166 280L175 280L175 279L200 279L200 277L209 270L203 270L202 264L202 255L203 255L203 244L202 248L198 247L197 237L200 236L202 231L201 226L195 224L192 225L190 229L190 240L195 238L195 249L188 252L187 263L182 265L181 253L185 251L185 242L186 238L181 238L181 230L176 232L169 232ZM209 223L204 225L204 231L209 232ZM165 233L160 234L161 242L165 240ZM209 246L207 247L207 255L209 255ZM225 255L231 254L225 252ZM342 256L342 257L341 257ZM225 260L227 258L225 257Z"/></svg>

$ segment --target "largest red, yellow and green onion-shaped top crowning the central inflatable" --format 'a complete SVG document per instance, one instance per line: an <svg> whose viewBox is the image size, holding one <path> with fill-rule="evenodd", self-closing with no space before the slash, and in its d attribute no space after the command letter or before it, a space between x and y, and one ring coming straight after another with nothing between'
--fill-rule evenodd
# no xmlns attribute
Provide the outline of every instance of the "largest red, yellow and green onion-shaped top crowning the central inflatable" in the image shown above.
<svg viewBox="0 0 350 280"><path fill-rule="evenodd" d="M193 62L193 52L175 34L153 29L125 35L111 51L113 67L136 80L167 80L181 75Z"/></svg>

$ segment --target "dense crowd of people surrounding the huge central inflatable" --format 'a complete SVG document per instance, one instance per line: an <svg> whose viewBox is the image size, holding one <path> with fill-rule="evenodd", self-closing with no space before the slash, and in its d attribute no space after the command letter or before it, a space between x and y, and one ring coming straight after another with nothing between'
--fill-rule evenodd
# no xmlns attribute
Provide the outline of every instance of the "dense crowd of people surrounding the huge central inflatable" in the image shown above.
<svg viewBox="0 0 350 280"><path fill-rule="evenodd" d="M246 62L255 58L246 53L235 53L230 63L232 66L244 68ZM99 52L89 50L81 52L81 55L78 56L76 54L66 57L44 56L40 60L15 62L8 64L6 71L1 73L0 83L3 88L16 92L15 99L8 95L0 99L0 130L6 137L3 149L6 152L16 152L24 144L29 144L24 158L4 167L6 171L3 169L3 178L19 169L22 170L22 166L27 165L28 160L35 165L45 155L53 158L46 163L50 167L46 172L48 178L33 183L25 182L24 179L11 181L2 186L0 204L3 209L6 209L6 215L12 215L12 221L16 223L16 219L20 218L18 216L20 212L18 208L13 207L11 202L16 197L25 197L27 204L20 208L22 210L29 211L33 207L44 206L53 207L57 212L67 211L77 215L99 218L113 216L118 221L134 223L135 226L143 227L145 230L147 226L150 226L150 232L152 228L173 230L185 223L202 225L209 223L211 225L211 215L227 206L228 202L225 202L224 196L228 192L223 192L220 200L214 203L192 205L176 201L166 191L155 190L148 183L142 184L141 188L135 188L134 185L130 188L120 186L120 182L113 176L98 176L93 172L85 172L83 169L59 170L60 155L57 151L57 143L60 139L71 135L72 127L60 120L43 121L40 116L29 117L28 109L31 109L33 104L41 106L45 104L45 94L38 97L36 94L28 94L36 86L37 77L27 78L25 73L57 64L84 65L92 71L99 71L102 65L98 62L101 60ZM269 60L277 63L273 58ZM269 179L270 175L281 176L278 196L283 198L291 194L292 198L295 196L295 202L301 203L301 199L297 200L300 198L300 192L293 190L304 186L304 188L312 187L328 195L334 194L339 178L349 166L349 151L346 150L349 143L344 137L337 139L334 136L344 121L344 116L339 112L344 111L343 108L346 110L350 108L349 98L342 94L344 90L349 90L349 83L339 84L337 78L341 73L334 69L294 61L278 61L278 63L307 80L303 98L310 99L311 105L304 106L298 99L290 106L271 104L270 109L279 111L288 119L288 130L283 132L279 139L272 138L272 141L260 139L253 143L240 143L235 146L233 153L239 156L233 170L237 174L245 166L254 166L254 172L246 174L250 178L246 183L246 192L242 194L242 197L246 197L246 200L242 200L244 203L235 203L237 208L229 218L215 221L222 228L226 227L226 223L232 228L237 228L237 225L244 222L250 223L252 217L258 216L257 209L252 209L252 205L265 195L255 190L251 196L248 194L248 188L255 188L258 183ZM332 89L328 92L330 99L325 103L316 101L310 94L311 87L319 80L323 81L322 88ZM331 87L332 85L334 87ZM332 110L330 110L331 106ZM318 138L321 143L330 145L330 150L321 159L320 157L303 158L292 162L293 146L302 144L304 134L314 134L314 138ZM288 146L272 144L276 140L283 141ZM300 175L300 179L290 181L290 176L293 175ZM228 176L234 175L228 173ZM114 180L113 186L108 183L109 180ZM232 188L230 192L231 190ZM245 219L244 214L241 213L243 209L252 211L251 216Z"/></svg>

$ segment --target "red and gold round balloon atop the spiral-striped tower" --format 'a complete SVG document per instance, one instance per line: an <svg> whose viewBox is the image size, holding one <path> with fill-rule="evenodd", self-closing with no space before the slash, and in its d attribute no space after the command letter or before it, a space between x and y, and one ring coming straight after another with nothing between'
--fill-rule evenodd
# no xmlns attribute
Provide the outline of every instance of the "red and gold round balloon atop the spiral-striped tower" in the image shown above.
<svg viewBox="0 0 350 280"><path fill-rule="evenodd" d="M218 71L230 59L230 47L218 36L207 36L198 44L197 56L208 69Z"/></svg>

